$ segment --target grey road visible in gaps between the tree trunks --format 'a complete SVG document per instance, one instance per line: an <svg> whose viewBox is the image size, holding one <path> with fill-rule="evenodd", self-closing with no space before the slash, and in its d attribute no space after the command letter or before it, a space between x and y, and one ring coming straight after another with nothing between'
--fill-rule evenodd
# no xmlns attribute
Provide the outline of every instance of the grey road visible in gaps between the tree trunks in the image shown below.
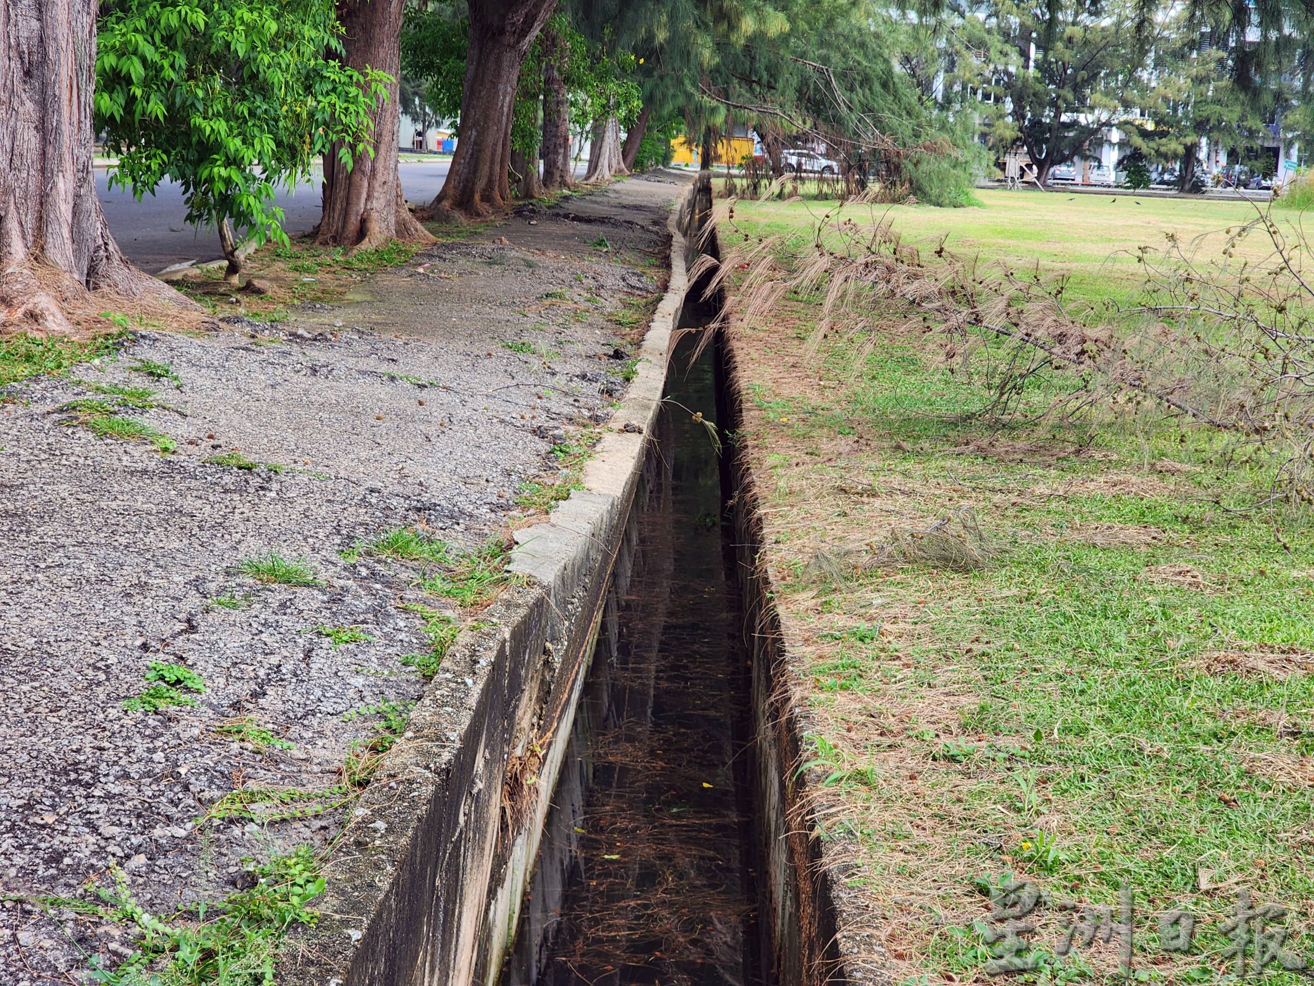
<svg viewBox="0 0 1314 986"><path fill-rule="evenodd" d="M443 188L451 158L434 158L401 166L402 193L407 201L428 202ZM583 166L578 168L583 174ZM205 262L223 256L219 237L213 229L188 226L183 217L183 193L170 181L155 189L154 196L142 201L133 199L122 188L109 189L109 172L96 170L96 191L109 221L109 230L118 241L127 259L145 271L158 273L163 268L187 260ZM319 177L297 187L292 193L280 192L277 204L283 206L284 229L290 234L306 233L319 222Z"/></svg>

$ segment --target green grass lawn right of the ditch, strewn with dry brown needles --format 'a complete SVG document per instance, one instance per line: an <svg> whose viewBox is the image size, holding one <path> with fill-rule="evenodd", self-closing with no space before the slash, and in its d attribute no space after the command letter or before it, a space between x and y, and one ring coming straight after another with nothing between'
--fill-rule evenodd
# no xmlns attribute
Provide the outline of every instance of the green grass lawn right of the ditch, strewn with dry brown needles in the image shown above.
<svg viewBox="0 0 1314 986"><path fill-rule="evenodd" d="M899 206L896 227L1063 270L1071 255L1092 294L1131 289L1101 267L1110 250L1248 208L982 197L991 208ZM735 221L805 242L815 209L740 202ZM1046 417L1074 384L1049 372L1018 415L992 419L979 358L949 362L942 337L895 327L866 347L809 342L815 306L733 325L741 440L802 661L828 855L849 864L894 982L997 982L989 894L1009 880L1045 894L1012 981L1118 981L1117 929L1102 941L1084 908L1117 922L1127 887L1138 979L1235 978L1225 922L1244 893L1288 911L1242 922L1269 944L1286 933L1261 972L1250 937L1244 972L1297 982L1281 961L1314 964L1307 514L1246 509L1261 475L1154 405ZM1184 952L1159 926L1177 908L1196 922ZM1095 940L1063 954L1087 918Z"/></svg>

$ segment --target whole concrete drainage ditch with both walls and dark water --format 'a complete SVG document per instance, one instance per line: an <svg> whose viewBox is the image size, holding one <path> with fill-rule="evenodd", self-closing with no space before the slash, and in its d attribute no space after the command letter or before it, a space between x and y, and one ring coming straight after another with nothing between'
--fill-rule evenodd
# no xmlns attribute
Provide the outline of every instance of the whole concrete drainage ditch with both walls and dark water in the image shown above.
<svg viewBox="0 0 1314 986"><path fill-rule="evenodd" d="M280 982L844 979L757 500L720 440L733 367L673 347L715 314L686 276L690 245L716 250L710 216L704 172L586 489L516 532L526 585L448 656L472 669L468 701L415 709Z"/></svg>

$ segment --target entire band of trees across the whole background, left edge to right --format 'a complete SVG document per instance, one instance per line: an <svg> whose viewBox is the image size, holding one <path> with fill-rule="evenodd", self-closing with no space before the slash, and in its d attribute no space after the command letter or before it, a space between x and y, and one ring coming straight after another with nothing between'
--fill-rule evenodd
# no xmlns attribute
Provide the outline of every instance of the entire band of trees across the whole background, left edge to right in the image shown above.
<svg viewBox="0 0 1314 986"><path fill-rule="evenodd" d="M585 133L590 179L660 156L654 134L710 158L750 128L773 176L809 142L936 204L970 199L983 143L1047 172L1110 124L1189 175L1201 137L1314 130L1307 28L1302 0L0 0L0 64L21 67L0 72L0 305L62 325L80 292L181 302L116 247L96 133L137 195L181 184L235 275L242 239L283 238L276 185L321 159L318 237L350 248L566 185ZM403 70L459 121L418 218Z"/></svg>

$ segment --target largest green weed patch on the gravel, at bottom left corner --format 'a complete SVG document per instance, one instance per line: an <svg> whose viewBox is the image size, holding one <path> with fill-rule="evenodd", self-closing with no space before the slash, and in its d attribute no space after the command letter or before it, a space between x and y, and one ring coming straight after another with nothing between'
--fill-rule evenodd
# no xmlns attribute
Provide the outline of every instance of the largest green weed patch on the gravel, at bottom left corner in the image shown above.
<svg viewBox="0 0 1314 986"><path fill-rule="evenodd" d="M268 986L279 944L289 928L314 924L306 904L325 890L325 878L309 845L264 865L247 861L256 883L214 904L200 903L172 918L159 918L131 895L116 872L114 890L101 890L124 920L142 931L138 952L110 972L91 978L109 986Z"/></svg>

